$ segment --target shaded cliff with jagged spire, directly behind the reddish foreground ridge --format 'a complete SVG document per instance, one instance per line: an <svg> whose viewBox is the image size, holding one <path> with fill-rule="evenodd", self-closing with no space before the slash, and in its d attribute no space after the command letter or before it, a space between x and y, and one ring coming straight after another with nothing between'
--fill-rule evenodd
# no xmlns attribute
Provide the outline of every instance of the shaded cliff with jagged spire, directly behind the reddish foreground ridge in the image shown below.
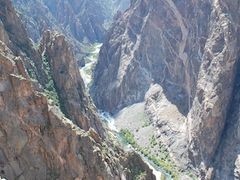
<svg viewBox="0 0 240 180"><path fill-rule="evenodd" d="M87 130L91 126L103 135L102 126L85 94L76 61L64 37L53 37L48 32L41 49L37 51L11 2L1 1L0 8L3 22L0 40L7 42L14 54L22 57L28 74L40 83L41 91L48 90L49 96L56 96L62 104L62 111L80 128ZM58 91L52 93L56 89Z"/></svg>

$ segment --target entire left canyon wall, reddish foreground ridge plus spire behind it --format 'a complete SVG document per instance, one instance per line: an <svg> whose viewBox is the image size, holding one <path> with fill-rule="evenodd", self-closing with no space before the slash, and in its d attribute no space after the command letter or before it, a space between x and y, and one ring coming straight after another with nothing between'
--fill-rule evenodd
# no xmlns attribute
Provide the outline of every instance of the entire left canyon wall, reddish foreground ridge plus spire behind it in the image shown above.
<svg viewBox="0 0 240 180"><path fill-rule="evenodd" d="M41 56L25 36L11 2L1 0L0 5L0 177L120 180L141 175L154 180L139 155L124 152L114 137L101 136L96 126L102 127L100 120L94 109L88 109L92 105L64 37L46 32ZM46 77L40 73L38 77L46 81L45 86L29 76L38 73L35 64L34 69L28 67L34 62L32 53L39 57L36 60ZM61 73L68 79L59 79ZM59 103L71 119L56 106Z"/></svg>

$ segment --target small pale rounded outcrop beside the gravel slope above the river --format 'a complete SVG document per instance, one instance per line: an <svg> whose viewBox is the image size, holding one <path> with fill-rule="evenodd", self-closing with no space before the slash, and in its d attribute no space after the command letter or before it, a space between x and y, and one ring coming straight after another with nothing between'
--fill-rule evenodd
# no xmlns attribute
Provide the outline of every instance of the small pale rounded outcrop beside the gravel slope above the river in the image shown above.
<svg viewBox="0 0 240 180"><path fill-rule="evenodd" d="M189 165L186 120L176 105L168 101L160 85L150 87L145 96L145 112L156 128L157 137L171 158L183 169Z"/></svg>

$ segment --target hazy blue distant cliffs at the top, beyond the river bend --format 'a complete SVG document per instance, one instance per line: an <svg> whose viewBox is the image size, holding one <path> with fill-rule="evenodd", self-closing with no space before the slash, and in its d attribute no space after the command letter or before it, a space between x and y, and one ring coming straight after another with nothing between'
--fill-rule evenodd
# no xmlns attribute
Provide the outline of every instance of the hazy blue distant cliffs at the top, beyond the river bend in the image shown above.
<svg viewBox="0 0 240 180"><path fill-rule="evenodd" d="M101 42L118 10L129 0L14 0L27 31L34 41L46 28L58 30L75 43Z"/></svg>

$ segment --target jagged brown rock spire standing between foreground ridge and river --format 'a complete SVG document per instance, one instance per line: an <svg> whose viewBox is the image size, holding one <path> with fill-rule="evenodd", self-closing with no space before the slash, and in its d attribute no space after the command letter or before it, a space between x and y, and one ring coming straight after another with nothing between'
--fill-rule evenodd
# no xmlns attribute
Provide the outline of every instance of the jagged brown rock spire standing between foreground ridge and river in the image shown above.
<svg viewBox="0 0 240 180"><path fill-rule="evenodd" d="M50 76L53 78L65 115L82 129L88 130L93 127L103 135L102 125L85 92L77 62L65 37L56 32L46 31L39 51L49 64Z"/></svg>

